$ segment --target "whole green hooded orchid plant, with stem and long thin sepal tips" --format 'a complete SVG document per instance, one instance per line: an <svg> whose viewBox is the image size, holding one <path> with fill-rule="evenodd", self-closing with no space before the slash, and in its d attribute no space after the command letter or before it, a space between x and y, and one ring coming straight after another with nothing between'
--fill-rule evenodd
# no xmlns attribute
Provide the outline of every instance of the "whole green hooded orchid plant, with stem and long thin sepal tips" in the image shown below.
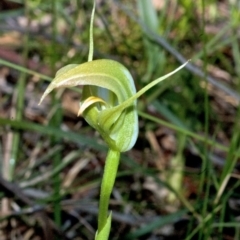
<svg viewBox="0 0 240 240"><path fill-rule="evenodd" d="M40 103L55 88L84 86L79 115L101 134L109 147L100 192L98 230L95 236L96 240L107 240L112 217L111 213L108 214L108 205L117 175L120 153L130 150L138 136L137 98L182 69L187 62L136 92L131 74L122 64L108 59L92 59L94 11L95 2L90 24L88 62L61 68L44 92Z"/></svg>

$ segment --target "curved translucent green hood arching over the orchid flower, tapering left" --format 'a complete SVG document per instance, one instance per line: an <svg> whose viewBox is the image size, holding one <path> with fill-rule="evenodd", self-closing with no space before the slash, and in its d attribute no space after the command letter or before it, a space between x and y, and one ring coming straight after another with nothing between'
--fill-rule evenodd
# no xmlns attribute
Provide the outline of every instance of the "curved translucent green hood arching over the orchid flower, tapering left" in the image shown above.
<svg viewBox="0 0 240 240"><path fill-rule="evenodd" d="M65 69L68 66L58 71L40 102L55 88L78 85L93 85L106 88L117 96L119 103L136 93L131 74L122 64L116 61L95 60L77 66L73 64L70 65L70 69Z"/></svg>

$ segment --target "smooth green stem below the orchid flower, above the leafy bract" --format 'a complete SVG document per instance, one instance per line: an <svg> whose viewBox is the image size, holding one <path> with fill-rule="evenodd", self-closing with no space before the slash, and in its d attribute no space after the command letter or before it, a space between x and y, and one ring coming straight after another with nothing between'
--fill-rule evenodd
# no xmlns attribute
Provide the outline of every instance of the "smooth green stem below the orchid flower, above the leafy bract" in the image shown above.
<svg viewBox="0 0 240 240"><path fill-rule="evenodd" d="M109 149L100 192L98 233L100 233L107 222L109 199L116 179L119 160L120 152Z"/></svg>

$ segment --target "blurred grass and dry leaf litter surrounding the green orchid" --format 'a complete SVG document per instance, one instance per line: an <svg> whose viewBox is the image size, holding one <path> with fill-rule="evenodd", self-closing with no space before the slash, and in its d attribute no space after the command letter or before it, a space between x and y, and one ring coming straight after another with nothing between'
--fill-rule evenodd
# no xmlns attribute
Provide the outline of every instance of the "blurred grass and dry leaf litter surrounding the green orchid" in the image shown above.
<svg viewBox="0 0 240 240"><path fill-rule="evenodd" d="M87 61L91 1L0 3L0 239L93 239L106 146L78 118L81 88L39 99ZM240 239L240 3L97 1L94 59L136 88L192 59L138 101L110 239Z"/></svg>

